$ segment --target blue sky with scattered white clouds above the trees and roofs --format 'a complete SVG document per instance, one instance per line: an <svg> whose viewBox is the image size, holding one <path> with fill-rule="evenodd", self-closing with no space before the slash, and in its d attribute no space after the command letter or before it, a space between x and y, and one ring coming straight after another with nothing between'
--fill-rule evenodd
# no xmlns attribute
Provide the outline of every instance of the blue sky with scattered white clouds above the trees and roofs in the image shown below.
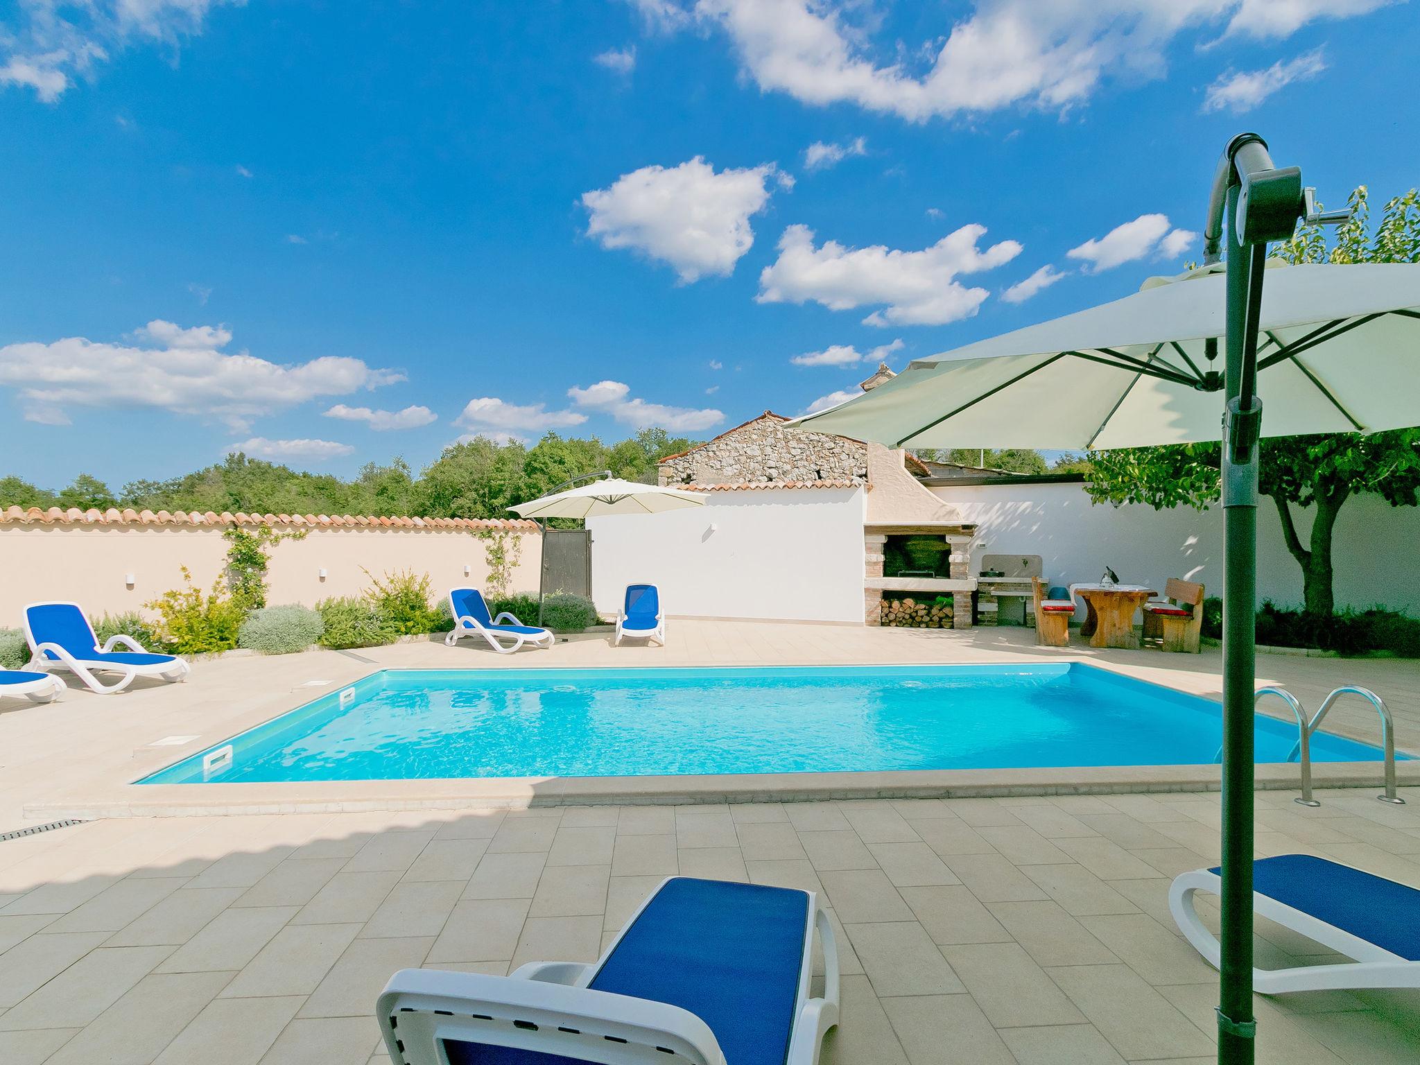
<svg viewBox="0 0 1420 1065"><path fill-rule="evenodd" d="M1420 183L1417 45L1382 0L0 0L0 474L798 413L1197 258L1241 129L1332 203Z"/></svg>

